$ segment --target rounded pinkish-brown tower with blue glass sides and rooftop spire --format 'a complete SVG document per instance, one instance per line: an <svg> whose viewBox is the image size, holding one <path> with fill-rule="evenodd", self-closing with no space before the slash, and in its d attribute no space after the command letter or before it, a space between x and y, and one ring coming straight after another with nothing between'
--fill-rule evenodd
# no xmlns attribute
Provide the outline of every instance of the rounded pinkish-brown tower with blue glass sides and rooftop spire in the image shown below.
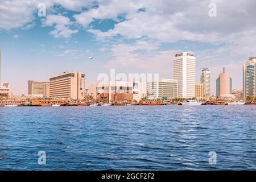
<svg viewBox="0 0 256 182"><path fill-rule="evenodd" d="M216 97L232 98L232 78L225 72L225 68L216 80Z"/></svg>

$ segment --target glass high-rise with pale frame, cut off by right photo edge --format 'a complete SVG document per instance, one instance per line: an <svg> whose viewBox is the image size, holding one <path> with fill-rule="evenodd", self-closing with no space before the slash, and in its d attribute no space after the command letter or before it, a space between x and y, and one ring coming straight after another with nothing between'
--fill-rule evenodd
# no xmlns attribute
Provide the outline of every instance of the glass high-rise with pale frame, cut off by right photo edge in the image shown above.
<svg viewBox="0 0 256 182"><path fill-rule="evenodd" d="M256 57L250 57L243 64L243 97L256 97Z"/></svg>

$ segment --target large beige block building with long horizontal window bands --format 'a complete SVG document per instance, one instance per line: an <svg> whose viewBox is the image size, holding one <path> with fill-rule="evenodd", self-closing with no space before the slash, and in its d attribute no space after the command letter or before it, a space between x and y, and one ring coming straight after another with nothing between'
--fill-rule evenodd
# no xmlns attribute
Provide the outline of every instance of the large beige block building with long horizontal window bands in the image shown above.
<svg viewBox="0 0 256 182"><path fill-rule="evenodd" d="M85 73L64 72L49 78L49 97L78 99L85 97Z"/></svg>

